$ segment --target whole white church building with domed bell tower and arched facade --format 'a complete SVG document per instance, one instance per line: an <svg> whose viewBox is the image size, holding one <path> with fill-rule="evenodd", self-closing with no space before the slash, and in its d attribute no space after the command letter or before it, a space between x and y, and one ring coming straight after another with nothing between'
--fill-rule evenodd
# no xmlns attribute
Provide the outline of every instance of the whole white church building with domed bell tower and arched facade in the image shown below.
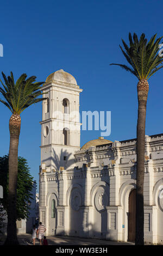
<svg viewBox="0 0 163 256"><path fill-rule="evenodd" d="M80 148L79 115L70 115L79 113L82 92L75 78L55 71L42 91L39 215L46 234L134 241L136 139L99 137ZM145 241L163 244L163 134L146 136L145 155Z"/></svg>

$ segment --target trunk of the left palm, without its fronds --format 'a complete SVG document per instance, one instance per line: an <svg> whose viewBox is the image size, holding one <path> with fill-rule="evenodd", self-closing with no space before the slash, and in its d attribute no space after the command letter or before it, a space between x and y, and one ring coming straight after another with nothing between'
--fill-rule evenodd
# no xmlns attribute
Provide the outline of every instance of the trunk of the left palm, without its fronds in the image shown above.
<svg viewBox="0 0 163 256"><path fill-rule="evenodd" d="M16 191L17 191L17 165L18 140L20 136L21 118L12 114L9 121L10 149L9 149L9 194L8 194L8 227L7 239L4 245L18 245L16 228Z"/></svg>

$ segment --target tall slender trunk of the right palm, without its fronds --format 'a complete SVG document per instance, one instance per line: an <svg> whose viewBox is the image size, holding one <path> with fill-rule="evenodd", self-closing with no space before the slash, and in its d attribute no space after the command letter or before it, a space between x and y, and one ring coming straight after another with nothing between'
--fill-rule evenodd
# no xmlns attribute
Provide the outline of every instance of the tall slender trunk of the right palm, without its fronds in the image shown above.
<svg viewBox="0 0 163 256"><path fill-rule="evenodd" d="M135 245L144 245L144 202L143 185L145 175L145 130L146 130L146 105L148 97L148 82L141 80L137 84L139 102L137 119L137 171L136 171L136 238Z"/></svg>

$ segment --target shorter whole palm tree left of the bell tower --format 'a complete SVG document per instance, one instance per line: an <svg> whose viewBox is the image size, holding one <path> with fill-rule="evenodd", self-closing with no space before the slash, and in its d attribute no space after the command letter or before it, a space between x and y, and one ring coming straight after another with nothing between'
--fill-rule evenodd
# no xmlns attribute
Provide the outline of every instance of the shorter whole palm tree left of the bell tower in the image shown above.
<svg viewBox="0 0 163 256"><path fill-rule="evenodd" d="M42 95L40 86L43 82L35 82L36 77L31 76L28 79L26 74L22 74L18 80L14 81L14 76L8 78L3 74L4 83L0 87L0 93L3 99L0 99L7 106L12 115L9 121L10 130L10 149L9 149L9 193L8 193L8 227L7 239L5 245L18 245L16 230L16 189L17 189L17 157L18 157L18 140L21 129L20 114L33 103L44 100L38 98Z"/></svg>

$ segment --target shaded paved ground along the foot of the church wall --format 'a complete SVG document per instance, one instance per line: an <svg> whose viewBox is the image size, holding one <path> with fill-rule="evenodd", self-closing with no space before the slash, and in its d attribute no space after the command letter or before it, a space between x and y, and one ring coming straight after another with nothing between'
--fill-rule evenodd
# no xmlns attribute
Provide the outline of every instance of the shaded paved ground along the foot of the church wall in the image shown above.
<svg viewBox="0 0 163 256"><path fill-rule="evenodd" d="M72 236L47 236L49 245L134 245L131 242L117 242L101 239L80 238ZM30 234L18 235L20 245L32 245L32 237ZM35 245L39 245L36 239Z"/></svg>

